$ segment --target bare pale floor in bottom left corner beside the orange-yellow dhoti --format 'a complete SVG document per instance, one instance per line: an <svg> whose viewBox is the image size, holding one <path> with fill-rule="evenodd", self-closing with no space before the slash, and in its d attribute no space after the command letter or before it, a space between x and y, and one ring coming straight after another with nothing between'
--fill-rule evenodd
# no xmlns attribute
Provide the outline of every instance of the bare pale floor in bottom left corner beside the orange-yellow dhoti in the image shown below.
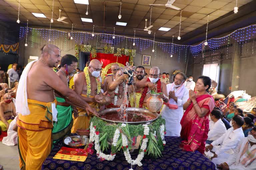
<svg viewBox="0 0 256 170"><path fill-rule="evenodd" d="M0 142L0 164L4 170L19 170L18 146L6 146Z"/></svg>

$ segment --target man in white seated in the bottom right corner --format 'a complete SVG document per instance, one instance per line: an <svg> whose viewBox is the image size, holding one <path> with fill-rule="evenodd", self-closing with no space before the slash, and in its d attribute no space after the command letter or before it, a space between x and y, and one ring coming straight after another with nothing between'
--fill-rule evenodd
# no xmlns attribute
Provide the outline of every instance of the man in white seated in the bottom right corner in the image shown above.
<svg viewBox="0 0 256 170"><path fill-rule="evenodd" d="M222 170L255 170L256 169L256 128L253 128L248 137L238 144L235 153L217 168Z"/></svg>

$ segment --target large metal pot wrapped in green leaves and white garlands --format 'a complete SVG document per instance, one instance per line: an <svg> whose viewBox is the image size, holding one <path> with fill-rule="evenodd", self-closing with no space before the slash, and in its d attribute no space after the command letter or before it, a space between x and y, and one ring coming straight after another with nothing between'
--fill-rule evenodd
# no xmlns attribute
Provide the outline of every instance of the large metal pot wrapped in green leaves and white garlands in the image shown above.
<svg viewBox="0 0 256 170"><path fill-rule="evenodd" d="M93 153L95 149L101 160L113 160L116 154L123 153L129 164L138 166L142 166L145 154L161 156L165 120L146 109L127 108L127 122L123 122L118 111L119 108L106 109L91 119L87 151ZM130 153L138 153L137 158L133 160Z"/></svg>

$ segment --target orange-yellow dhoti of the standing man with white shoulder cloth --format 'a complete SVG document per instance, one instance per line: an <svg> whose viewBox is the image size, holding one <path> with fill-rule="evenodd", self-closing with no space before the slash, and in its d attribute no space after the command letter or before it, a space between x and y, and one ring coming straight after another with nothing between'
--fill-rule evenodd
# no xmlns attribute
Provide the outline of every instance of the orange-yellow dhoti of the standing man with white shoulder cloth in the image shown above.
<svg viewBox="0 0 256 170"><path fill-rule="evenodd" d="M17 119L20 168L40 170L51 151L51 102L28 99L28 107L30 115L19 114Z"/></svg>

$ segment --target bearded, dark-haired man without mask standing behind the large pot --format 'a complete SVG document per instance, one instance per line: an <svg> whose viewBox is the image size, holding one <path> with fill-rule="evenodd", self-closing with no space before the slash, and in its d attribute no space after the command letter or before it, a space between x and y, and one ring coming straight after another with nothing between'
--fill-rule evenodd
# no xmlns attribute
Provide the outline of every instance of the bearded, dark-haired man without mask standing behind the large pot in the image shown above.
<svg viewBox="0 0 256 170"><path fill-rule="evenodd" d="M135 69L136 77L135 77L135 83L134 86L130 86L131 95L130 95L130 105L131 107L139 108L139 101L141 98L141 93L143 92L144 88L138 89L136 87L136 84L139 83L142 79L145 77L145 68L143 66L138 66ZM133 89L133 87L135 89ZM134 91L134 93L133 93ZM135 99L135 101L134 101Z"/></svg>

